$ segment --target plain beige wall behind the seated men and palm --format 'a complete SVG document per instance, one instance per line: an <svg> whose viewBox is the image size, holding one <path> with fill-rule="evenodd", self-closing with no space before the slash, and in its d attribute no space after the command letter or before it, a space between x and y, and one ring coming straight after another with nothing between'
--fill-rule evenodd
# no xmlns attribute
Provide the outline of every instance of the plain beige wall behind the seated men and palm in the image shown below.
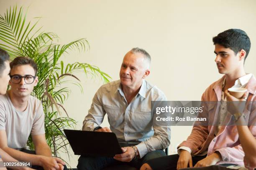
<svg viewBox="0 0 256 170"><path fill-rule="evenodd" d="M152 57L149 82L169 100L200 100L202 92L220 75L215 65L212 37L229 28L245 30L251 38L246 72L256 75L255 0L0 0L0 14L13 6L29 6L28 18L42 17L43 30L55 32L60 43L81 37L90 51L71 52L64 62L88 62L119 77L123 56L132 47L146 49ZM82 77L82 75L79 75ZM102 82L84 80L84 94L77 87L65 107L78 121L90 108ZM108 126L106 119L103 126ZM170 153L189 135L191 127L172 127ZM72 167L77 157L71 158Z"/></svg>

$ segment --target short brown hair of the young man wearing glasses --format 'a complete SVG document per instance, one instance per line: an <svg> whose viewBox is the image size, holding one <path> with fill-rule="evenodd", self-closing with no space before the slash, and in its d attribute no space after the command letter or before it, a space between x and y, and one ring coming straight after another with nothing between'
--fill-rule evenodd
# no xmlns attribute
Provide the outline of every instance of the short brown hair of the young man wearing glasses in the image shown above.
<svg viewBox="0 0 256 170"><path fill-rule="evenodd" d="M35 76L37 74L37 65L29 57L16 57L12 62L10 62L10 69L13 69L15 66L19 65L30 65L35 70Z"/></svg>

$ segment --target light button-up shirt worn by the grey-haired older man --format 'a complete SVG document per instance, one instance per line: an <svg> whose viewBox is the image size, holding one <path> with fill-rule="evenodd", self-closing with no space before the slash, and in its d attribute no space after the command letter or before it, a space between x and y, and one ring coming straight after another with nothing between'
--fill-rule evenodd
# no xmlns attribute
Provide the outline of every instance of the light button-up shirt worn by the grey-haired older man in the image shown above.
<svg viewBox="0 0 256 170"><path fill-rule="evenodd" d="M128 104L120 80L102 85L97 90L82 130L93 130L108 115L110 130L120 143L136 144L140 157L153 150L165 149L170 144L169 126L157 125L151 114L151 101L166 101L156 86L143 80L138 94Z"/></svg>

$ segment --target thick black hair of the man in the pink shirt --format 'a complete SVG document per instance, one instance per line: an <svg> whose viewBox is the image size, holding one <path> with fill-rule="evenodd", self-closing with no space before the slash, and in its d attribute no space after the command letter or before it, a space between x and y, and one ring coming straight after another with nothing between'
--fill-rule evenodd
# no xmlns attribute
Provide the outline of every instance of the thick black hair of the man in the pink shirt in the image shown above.
<svg viewBox="0 0 256 170"><path fill-rule="evenodd" d="M241 50L246 51L246 57L251 48L251 41L246 32L240 29L229 29L219 33L216 37L212 38L213 44L222 45L225 48L230 48L237 54Z"/></svg>

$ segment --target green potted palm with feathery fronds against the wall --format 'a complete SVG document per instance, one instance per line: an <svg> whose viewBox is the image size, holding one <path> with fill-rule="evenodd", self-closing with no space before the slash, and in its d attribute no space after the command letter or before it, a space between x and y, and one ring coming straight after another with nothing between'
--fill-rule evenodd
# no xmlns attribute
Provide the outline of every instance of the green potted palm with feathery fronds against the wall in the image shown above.
<svg viewBox="0 0 256 170"><path fill-rule="evenodd" d="M82 85L75 73L83 72L85 76L99 76L104 82L108 82L110 76L102 72L98 67L74 62L64 64L61 56L69 50L85 51L89 49L86 39L72 41L66 45L55 44L58 36L53 32L40 32L36 29L40 18L33 25L26 24L26 14L23 15L23 7L17 10L17 5L6 10L0 15L0 47L8 51L11 59L17 56L31 57L38 65L38 85L34 87L32 95L41 100L45 113L46 140L51 147L54 156L59 156L59 151L67 152L67 139L63 134L64 128L74 128L76 122L70 118L63 107L70 89L63 87L66 83L77 85L81 91ZM66 77L72 77L67 80ZM58 112L64 110L67 116L61 117ZM33 149L33 143L29 138L27 145Z"/></svg>

